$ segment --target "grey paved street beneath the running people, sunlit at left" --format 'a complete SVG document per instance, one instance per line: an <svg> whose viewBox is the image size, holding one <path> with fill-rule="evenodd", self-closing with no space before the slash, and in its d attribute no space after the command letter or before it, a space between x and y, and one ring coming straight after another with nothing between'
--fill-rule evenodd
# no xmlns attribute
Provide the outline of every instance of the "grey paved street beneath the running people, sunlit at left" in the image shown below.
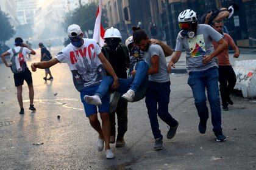
<svg viewBox="0 0 256 170"><path fill-rule="evenodd" d="M40 60L38 54L29 65ZM204 135L197 131L188 75L171 74L169 112L179 120L176 136L168 140L168 127L159 120L164 149L154 151L144 100L129 103L126 146L112 144L116 158L107 160L94 147L98 135L85 117L68 66L57 64L51 70L54 80L47 82L44 70L32 73L37 112L29 111L29 92L23 86L25 114L19 115L13 74L0 64L0 169L255 169L256 99L232 96L235 104L222 112L227 141L218 143L210 119Z"/></svg>

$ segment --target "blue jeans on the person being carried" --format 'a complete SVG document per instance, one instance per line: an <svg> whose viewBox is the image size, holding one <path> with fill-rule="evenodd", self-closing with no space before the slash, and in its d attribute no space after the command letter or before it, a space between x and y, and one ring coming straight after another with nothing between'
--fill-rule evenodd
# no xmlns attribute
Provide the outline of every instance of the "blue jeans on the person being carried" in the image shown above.
<svg viewBox="0 0 256 170"><path fill-rule="evenodd" d="M148 77L148 69L149 66L145 61L140 61L137 64L136 67L136 74L134 77L130 77L127 79L119 78L119 87L116 89L117 92L119 92L121 95L125 94L127 90L131 89L135 92L135 95L137 93L138 88L140 85L146 84L143 83ZM108 89L113 84L113 78L110 76L105 76L102 78L101 85L99 85L98 90L96 90L96 95L98 95L100 98L104 98L105 95L108 94ZM146 87L146 85L144 85ZM140 87L141 89L141 87Z"/></svg>

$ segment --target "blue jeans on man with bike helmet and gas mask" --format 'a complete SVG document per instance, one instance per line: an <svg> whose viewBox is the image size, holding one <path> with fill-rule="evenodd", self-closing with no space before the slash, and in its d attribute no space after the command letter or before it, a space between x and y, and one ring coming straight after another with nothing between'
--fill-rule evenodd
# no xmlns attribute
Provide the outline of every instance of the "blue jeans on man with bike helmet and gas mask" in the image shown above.
<svg viewBox="0 0 256 170"><path fill-rule="evenodd" d="M206 105L205 88L207 89L207 97L212 112L213 132L219 132L221 128L221 106L219 102L219 87L218 87L218 69L212 67L210 69L190 72L188 85L190 85L194 104L201 121L208 119L208 107Z"/></svg>

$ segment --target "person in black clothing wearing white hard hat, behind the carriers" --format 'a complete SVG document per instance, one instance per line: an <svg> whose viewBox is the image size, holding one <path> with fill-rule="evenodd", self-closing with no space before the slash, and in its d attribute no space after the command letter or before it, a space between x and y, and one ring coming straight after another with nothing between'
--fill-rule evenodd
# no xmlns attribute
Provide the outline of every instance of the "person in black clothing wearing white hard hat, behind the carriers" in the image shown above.
<svg viewBox="0 0 256 170"><path fill-rule="evenodd" d="M102 53L112 65L118 78L127 78L127 68L129 68L129 51L121 43L121 34L118 29L111 27L104 35L106 46L102 47ZM116 110L110 113L111 135L110 143L115 143L115 113L118 119L118 135L116 147L124 146L124 134L127 131L127 101L120 98Z"/></svg>

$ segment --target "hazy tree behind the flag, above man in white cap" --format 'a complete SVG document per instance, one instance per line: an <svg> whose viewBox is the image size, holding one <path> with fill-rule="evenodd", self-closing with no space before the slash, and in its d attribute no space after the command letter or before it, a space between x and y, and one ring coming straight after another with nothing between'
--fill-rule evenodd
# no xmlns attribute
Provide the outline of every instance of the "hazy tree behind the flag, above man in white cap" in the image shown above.
<svg viewBox="0 0 256 170"><path fill-rule="evenodd" d="M65 31L71 24L79 25L81 29L87 33L89 30L93 30L97 9L98 5L95 2L91 2L90 4L81 5L77 9L67 13L65 21L63 22ZM107 27L107 22L108 19L106 16L106 11L102 10L101 23L103 27Z"/></svg>

